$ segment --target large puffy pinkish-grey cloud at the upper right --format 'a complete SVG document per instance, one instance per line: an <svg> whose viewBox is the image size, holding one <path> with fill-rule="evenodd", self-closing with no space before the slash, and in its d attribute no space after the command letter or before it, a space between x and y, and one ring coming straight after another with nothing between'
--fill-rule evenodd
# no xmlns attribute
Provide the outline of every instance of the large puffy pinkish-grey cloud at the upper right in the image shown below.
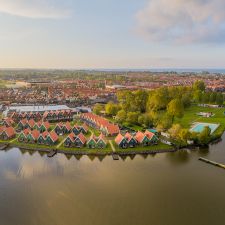
<svg viewBox="0 0 225 225"><path fill-rule="evenodd" d="M137 32L151 41L225 42L224 0L148 0Z"/></svg>

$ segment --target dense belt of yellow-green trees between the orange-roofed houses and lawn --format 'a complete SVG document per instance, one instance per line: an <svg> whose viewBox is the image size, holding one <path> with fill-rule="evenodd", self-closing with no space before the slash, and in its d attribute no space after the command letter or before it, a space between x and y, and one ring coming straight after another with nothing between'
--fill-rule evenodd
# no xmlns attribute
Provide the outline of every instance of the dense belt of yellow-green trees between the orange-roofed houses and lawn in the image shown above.
<svg viewBox="0 0 225 225"><path fill-rule="evenodd" d="M211 103L222 105L222 93L207 91L204 82L196 81L192 87L162 87L156 90L122 90L117 93L117 103L109 102L105 106L96 104L94 112L102 111L108 117L124 126L156 127L159 131L178 130L180 141L187 140L190 132L181 127L173 127L175 118L182 118L184 111L191 104ZM207 132L205 132L207 133ZM197 138L197 137L194 137Z"/></svg>

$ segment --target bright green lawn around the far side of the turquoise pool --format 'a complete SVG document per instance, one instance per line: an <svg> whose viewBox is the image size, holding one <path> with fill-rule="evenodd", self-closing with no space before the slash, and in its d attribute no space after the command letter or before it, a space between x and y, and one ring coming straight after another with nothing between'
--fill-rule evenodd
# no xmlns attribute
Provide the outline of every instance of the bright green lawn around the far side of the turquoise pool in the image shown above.
<svg viewBox="0 0 225 225"><path fill-rule="evenodd" d="M184 128L190 128L194 122L205 122L205 123L219 123L220 127L215 131L214 134L221 135L225 130L225 115L224 108L206 108L200 106L191 106L185 109L183 118L175 118L174 123L180 124ZM213 117L204 118L198 116L199 112L213 112Z"/></svg>

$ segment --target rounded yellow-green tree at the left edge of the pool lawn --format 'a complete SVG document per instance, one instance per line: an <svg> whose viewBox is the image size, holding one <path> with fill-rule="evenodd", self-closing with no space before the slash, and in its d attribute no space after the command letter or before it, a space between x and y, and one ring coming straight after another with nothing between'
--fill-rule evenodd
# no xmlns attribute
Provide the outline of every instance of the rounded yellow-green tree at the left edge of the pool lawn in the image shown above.
<svg viewBox="0 0 225 225"><path fill-rule="evenodd" d="M180 99L173 99L167 106L167 112L172 116L172 122L174 117L181 118L184 115L184 105Z"/></svg>

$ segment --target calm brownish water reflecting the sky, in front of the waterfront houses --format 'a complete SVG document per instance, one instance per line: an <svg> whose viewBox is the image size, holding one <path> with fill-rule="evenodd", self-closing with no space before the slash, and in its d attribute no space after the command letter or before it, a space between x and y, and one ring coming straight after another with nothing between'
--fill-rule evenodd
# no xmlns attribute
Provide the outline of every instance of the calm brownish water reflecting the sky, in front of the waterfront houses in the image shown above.
<svg viewBox="0 0 225 225"><path fill-rule="evenodd" d="M0 152L0 225L224 225L223 142L113 161Z"/></svg>

